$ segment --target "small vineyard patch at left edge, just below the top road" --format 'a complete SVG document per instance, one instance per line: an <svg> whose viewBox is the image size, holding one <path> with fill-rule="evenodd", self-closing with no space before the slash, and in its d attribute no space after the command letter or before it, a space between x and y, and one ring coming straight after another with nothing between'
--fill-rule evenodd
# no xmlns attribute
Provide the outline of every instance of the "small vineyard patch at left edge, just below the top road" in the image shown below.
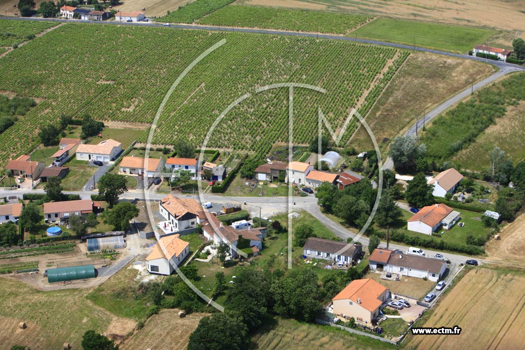
<svg viewBox="0 0 525 350"><path fill-rule="evenodd" d="M22 41L26 41L28 36L34 36L54 26L56 23L36 20L2 20L2 24L0 24L0 46L20 44Z"/></svg>

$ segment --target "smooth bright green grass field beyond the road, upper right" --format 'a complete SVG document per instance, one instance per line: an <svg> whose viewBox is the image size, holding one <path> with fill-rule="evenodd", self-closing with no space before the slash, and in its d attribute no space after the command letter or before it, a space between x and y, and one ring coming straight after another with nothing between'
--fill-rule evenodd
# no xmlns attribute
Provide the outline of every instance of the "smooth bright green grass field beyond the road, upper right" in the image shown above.
<svg viewBox="0 0 525 350"><path fill-rule="evenodd" d="M348 36L390 41L430 49L467 52L485 43L496 31L445 24L378 18L352 31Z"/></svg>

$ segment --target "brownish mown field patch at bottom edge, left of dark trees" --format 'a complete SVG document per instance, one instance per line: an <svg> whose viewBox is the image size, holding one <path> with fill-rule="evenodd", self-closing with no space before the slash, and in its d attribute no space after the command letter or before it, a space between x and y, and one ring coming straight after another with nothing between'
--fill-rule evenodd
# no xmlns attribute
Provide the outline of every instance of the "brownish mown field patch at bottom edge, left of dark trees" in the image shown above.
<svg viewBox="0 0 525 350"><path fill-rule="evenodd" d="M144 327L135 332L120 346L120 349L185 349L190 340L190 334L195 331L198 322L207 314L193 313L180 318L178 311L175 309L162 310L159 314L150 317Z"/></svg>

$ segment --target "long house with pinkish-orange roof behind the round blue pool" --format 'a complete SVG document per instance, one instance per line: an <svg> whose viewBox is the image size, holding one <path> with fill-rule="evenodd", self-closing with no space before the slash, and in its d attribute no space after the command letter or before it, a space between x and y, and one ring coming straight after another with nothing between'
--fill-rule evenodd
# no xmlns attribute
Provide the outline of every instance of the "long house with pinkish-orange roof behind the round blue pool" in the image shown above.
<svg viewBox="0 0 525 350"><path fill-rule="evenodd" d="M100 209L98 201L79 199L44 203L44 219L46 222L68 222L71 216L82 216Z"/></svg>

